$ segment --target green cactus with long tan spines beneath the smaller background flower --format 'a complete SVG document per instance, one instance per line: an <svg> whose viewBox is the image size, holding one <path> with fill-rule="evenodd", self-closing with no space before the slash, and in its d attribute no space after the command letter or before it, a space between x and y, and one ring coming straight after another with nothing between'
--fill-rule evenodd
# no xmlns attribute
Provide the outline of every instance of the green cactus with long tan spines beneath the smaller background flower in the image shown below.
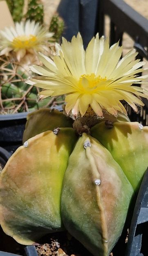
<svg viewBox="0 0 148 256"><path fill-rule="evenodd" d="M35 87L25 83L29 72L17 61L0 57L0 112L16 113L33 111L42 107L61 105L61 97L39 100Z"/></svg>

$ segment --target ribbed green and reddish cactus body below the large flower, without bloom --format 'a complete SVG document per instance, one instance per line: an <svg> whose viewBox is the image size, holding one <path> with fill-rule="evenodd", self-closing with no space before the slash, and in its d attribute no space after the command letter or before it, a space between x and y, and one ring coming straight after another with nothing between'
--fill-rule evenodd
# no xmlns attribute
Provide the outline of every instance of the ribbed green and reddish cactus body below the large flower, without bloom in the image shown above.
<svg viewBox="0 0 148 256"><path fill-rule="evenodd" d="M33 244L64 226L94 256L110 254L148 166L148 128L122 115L109 126L105 120L78 136L77 120L62 112L28 115L28 147L20 147L0 175L0 223L7 234Z"/></svg>

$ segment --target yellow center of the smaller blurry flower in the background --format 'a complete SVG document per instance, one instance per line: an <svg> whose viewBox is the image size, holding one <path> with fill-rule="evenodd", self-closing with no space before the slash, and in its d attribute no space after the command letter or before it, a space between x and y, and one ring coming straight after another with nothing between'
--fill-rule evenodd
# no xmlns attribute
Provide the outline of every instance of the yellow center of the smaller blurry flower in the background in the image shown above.
<svg viewBox="0 0 148 256"><path fill-rule="evenodd" d="M13 39L12 47L14 49L29 49L36 45L37 38L34 35L20 35Z"/></svg>

